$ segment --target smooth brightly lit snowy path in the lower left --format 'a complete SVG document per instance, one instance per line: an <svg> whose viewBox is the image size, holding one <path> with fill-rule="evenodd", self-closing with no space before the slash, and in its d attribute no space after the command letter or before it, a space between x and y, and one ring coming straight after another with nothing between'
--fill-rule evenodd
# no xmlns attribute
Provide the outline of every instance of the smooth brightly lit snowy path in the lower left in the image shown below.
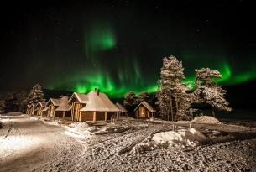
<svg viewBox="0 0 256 172"><path fill-rule="evenodd" d="M73 164L83 147L64 128L29 117L3 119L0 171L56 171Z"/></svg>

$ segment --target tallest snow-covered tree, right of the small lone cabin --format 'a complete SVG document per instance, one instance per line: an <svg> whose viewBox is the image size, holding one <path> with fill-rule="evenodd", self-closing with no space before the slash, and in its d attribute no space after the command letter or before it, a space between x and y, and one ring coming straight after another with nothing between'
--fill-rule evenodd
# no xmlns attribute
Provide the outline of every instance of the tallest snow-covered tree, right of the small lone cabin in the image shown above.
<svg viewBox="0 0 256 172"><path fill-rule="evenodd" d="M186 86L181 83L185 78L182 62L173 55L165 57L160 78L157 93L160 115L171 121L191 118L191 113L188 113L191 98L185 92Z"/></svg>

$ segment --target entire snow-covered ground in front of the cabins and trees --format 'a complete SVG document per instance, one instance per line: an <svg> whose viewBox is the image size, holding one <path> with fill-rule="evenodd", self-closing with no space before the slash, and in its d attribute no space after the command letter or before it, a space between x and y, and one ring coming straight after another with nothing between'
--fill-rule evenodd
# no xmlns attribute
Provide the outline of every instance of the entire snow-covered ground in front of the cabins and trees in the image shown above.
<svg viewBox="0 0 256 172"><path fill-rule="evenodd" d="M0 171L256 170L254 128L131 118L60 125L26 115L0 121Z"/></svg>

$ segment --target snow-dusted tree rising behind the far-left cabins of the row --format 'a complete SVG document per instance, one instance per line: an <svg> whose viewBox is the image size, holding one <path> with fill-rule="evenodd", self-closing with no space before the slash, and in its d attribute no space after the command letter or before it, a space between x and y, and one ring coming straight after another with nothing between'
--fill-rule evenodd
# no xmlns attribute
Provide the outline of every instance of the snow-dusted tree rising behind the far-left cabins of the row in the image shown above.
<svg viewBox="0 0 256 172"><path fill-rule="evenodd" d="M42 91L42 86L36 84L29 92L28 102L31 104L38 103L39 101L44 102L44 92Z"/></svg>

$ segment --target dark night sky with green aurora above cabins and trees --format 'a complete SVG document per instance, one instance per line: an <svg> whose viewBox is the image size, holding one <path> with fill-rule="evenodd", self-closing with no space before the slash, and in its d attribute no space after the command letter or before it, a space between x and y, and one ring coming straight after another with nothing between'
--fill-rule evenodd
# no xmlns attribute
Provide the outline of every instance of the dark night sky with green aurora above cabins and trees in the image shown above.
<svg viewBox="0 0 256 172"><path fill-rule="evenodd" d="M256 12L248 1L71 2L2 4L0 91L39 82L112 97L152 92L170 55L182 60L184 82L201 67L220 70L222 86L256 79Z"/></svg>

